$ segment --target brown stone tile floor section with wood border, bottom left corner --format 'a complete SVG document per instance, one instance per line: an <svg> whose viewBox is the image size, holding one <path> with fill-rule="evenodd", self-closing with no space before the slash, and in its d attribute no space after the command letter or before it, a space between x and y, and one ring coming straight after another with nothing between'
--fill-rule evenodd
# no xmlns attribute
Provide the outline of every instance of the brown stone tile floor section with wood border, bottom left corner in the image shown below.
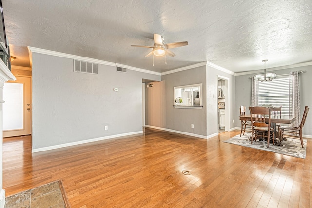
<svg viewBox="0 0 312 208"><path fill-rule="evenodd" d="M70 208L70 205L59 180L6 197L4 208Z"/></svg>

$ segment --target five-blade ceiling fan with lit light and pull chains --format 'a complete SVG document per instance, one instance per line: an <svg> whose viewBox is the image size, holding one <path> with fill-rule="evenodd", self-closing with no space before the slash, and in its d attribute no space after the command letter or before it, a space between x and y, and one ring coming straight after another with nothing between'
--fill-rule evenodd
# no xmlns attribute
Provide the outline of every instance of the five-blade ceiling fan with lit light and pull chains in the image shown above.
<svg viewBox="0 0 312 208"><path fill-rule="evenodd" d="M174 42L174 43L168 43L168 44L165 44L163 41L164 41L164 37L161 37L161 35L154 33L154 45L153 46L145 46L145 45L131 45L131 46L153 48L153 50L149 52L145 57L149 57L153 55L153 66L154 66L154 55L157 57L166 55L166 64L167 64L167 55L171 57L176 56L175 53L169 50L170 48L177 48L177 47L188 45L187 41Z"/></svg>

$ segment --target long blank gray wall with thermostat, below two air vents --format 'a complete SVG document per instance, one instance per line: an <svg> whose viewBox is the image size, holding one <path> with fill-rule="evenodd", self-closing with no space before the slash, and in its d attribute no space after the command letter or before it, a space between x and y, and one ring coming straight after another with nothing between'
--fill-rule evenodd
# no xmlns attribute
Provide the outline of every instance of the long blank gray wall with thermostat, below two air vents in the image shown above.
<svg viewBox="0 0 312 208"><path fill-rule="evenodd" d="M100 64L99 75L76 73L73 59L32 58L33 149L142 131L142 79L160 76Z"/></svg>

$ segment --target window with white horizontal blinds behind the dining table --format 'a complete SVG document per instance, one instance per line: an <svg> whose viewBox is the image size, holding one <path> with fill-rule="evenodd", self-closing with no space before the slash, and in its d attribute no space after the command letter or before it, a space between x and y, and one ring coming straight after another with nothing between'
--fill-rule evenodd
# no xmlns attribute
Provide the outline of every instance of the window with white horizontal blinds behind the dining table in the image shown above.
<svg viewBox="0 0 312 208"><path fill-rule="evenodd" d="M282 115L289 115L289 77L259 82L258 105L282 106Z"/></svg>

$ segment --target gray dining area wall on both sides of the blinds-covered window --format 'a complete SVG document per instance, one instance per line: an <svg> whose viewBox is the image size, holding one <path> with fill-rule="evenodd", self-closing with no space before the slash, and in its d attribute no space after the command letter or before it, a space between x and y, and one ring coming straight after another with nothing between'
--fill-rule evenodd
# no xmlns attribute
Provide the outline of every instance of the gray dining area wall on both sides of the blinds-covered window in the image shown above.
<svg viewBox="0 0 312 208"><path fill-rule="evenodd" d="M285 75L289 74L292 71L305 71L305 73L299 75L300 82L300 108L301 116L305 106L312 107L312 93L311 93L311 80L312 80L312 66L303 66L290 69L276 70L276 75ZM254 74L235 76L236 79L236 116L235 116L235 125L240 127L239 121L239 106L244 105L246 107L251 106L251 88L252 83L249 77ZM301 120L301 118L300 118ZM312 136L312 111L310 110L305 127L303 128L303 134Z"/></svg>

